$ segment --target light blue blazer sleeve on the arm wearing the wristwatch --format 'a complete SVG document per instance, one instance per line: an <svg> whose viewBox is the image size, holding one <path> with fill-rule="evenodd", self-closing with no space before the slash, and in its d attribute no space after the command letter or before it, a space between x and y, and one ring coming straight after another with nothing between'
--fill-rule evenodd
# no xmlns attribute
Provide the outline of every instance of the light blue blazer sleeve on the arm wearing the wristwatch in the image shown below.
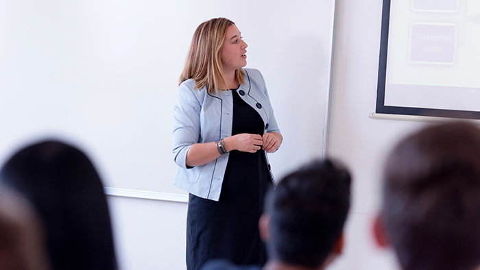
<svg viewBox="0 0 480 270"><path fill-rule="evenodd" d="M193 94L189 84L183 82L178 88L178 101L173 108L173 160L179 167L187 167L187 152L200 138L200 111L202 105Z"/></svg>

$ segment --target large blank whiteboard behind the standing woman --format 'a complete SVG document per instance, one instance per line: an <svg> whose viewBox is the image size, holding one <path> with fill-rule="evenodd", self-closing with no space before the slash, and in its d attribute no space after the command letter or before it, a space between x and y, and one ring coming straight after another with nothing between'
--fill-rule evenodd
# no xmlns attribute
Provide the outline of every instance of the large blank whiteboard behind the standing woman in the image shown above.
<svg viewBox="0 0 480 270"><path fill-rule="evenodd" d="M322 155L332 1L0 0L0 162L58 138L104 185L173 186L173 106L196 27L224 16L248 43L284 141L276 178Z"/></svg>

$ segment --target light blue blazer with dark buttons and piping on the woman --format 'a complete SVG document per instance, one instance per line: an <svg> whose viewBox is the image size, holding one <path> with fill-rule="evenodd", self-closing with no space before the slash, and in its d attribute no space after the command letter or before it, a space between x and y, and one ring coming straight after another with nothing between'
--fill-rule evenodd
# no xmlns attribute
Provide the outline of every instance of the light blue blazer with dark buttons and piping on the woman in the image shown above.
<svg viewBox="0 0 480 270"><path fill-rule="evenodd" d="M237 89L239 96L260 114L263 132L279 132L274 110L260 71L243 69L245 83ZM180 84L174 108L173 155L178 165L173 184L198 197L218 201L224 181L229 153L202 166L187 167L187 151L194 143L210 143L232 136L233 97L230 90L207 93L206 87L195 88L193 79ZM265 160L270 171L267 153ZM248 168L245 168L248 169ZM272 171L270 171L272 175ZM272 175L272 180L274 177ZM275 183L275 181L274 181Z"/></svg>

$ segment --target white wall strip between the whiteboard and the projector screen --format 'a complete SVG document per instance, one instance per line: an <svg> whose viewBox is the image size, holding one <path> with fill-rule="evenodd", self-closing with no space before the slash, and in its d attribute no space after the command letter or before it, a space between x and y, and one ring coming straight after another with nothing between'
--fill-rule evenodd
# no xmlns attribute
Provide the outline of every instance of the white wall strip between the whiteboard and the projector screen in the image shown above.
<svg viewBox="0 0 480 270"><path fill-rule="evenodd" d="M399 269L392 252L378 249L371 233L381 166L390 147L424 123L368 118L376 104L381 11L381 0L337 3L328 154L352 171L353 206L344 256L332 269Z"/></svg>

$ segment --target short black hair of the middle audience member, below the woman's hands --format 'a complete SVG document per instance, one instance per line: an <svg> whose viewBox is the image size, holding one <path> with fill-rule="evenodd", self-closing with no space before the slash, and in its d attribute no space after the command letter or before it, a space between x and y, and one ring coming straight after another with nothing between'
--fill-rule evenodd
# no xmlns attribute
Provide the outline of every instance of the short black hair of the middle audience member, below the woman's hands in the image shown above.
<svg viewBox="0 0 480 270"><path fill-rule="evenodd" d="M344 227L350 207L350 174L330 160L315 160L267 193L268 254L291 265L317 268Z"/></svg>

